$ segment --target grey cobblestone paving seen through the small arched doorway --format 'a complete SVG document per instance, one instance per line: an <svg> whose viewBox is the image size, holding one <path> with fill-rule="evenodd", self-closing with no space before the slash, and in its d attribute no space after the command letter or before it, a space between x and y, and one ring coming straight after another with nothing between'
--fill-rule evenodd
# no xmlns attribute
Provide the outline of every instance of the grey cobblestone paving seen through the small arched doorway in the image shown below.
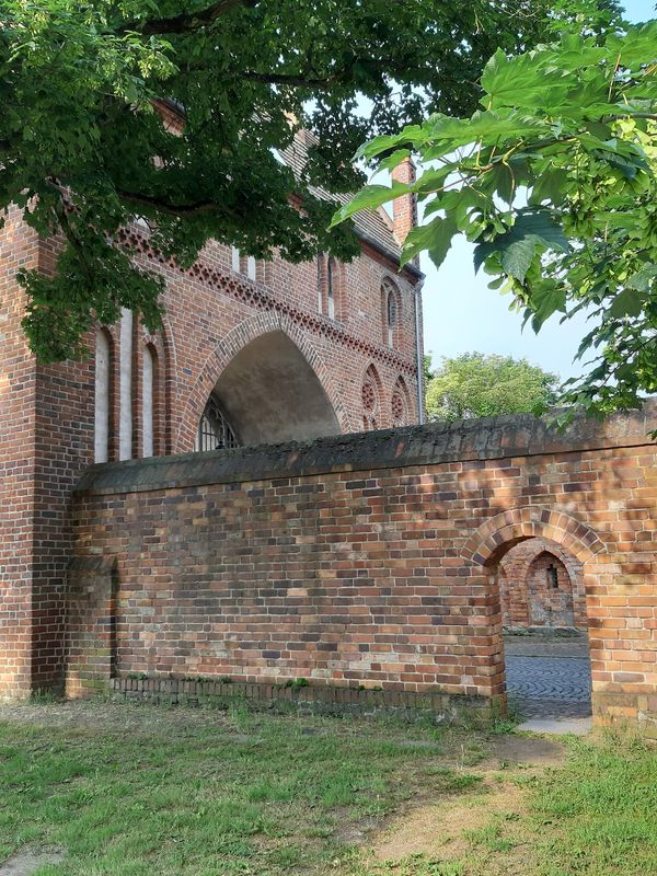
<svg viewBox="0 0 657 876"><path fill-rule="evenodd" d="M574 643L575 645L575 643ZM506 647L506 673L509 703L523 718L584 718L591 714L591 670L581 646L576 656L514 654L514 644ZM517 650L517 649L516 649Z"/></svg>

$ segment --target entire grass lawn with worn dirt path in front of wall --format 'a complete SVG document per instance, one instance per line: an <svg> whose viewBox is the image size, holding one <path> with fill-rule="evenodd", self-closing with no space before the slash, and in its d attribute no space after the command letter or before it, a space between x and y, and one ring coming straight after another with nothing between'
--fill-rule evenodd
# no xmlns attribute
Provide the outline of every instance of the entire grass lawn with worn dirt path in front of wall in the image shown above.
<svg viewBox="0 0 657 876"><path fill-rule="evenodd" d="M0 706L0 873L648 876L657 752L124 703Z"/></svg>

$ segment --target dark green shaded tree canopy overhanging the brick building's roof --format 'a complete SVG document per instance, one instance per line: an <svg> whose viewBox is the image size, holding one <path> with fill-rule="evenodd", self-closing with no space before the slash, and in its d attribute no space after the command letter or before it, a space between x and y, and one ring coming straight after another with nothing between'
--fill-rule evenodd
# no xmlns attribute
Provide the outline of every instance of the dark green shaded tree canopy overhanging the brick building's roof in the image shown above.
<svg viewBox="0 0 657 876"><path fill-rule="evenodd" d="M120 307L154 327L157 276L119 244L134 216L188 265L214 238L293 262L357 251L337 205L358 143L470 112L495 48L534 44L546 0L0 0L0 210L61 240L57 272L23 272L45 359L80 351ZM364 114L358 97L368 101ZM164 123L162 101L184 114ZM302 177L277 158L316 135Z"/></svg>

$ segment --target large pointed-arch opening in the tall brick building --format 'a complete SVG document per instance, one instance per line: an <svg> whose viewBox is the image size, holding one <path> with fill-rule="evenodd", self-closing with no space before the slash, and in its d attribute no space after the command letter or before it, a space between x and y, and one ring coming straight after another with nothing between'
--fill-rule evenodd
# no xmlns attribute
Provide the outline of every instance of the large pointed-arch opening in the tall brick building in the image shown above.
<svg viewBox="0 0 657 876"><path fill-rule="evenodd" d="M312 440L341 431L322 383L285 332L262 334L221 372L204 411L196 447Z"/></svg>

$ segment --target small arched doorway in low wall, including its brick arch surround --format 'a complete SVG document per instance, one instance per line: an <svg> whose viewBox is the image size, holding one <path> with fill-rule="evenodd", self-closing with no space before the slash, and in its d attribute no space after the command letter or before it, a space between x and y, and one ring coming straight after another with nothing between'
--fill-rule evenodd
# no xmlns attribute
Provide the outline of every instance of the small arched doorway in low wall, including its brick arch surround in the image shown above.
<svg viewBox="0 0 657 876"><path fill-rule="evenodd" d="M489 519L465 545L489 584L493 687L525 721L572 729L591 717L587 603L604 555L588 527L533 506Z"/></svg>

